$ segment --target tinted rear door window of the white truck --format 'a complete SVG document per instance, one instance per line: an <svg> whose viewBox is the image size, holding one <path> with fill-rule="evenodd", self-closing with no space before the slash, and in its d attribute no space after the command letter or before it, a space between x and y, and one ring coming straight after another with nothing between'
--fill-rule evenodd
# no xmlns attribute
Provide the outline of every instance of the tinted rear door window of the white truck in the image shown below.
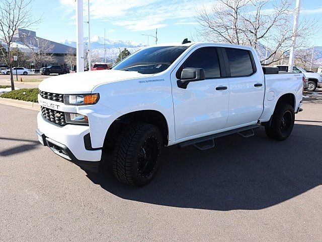
<svg viewBox="0 0 322 242"><path fill-rule="evenodd" d="M248 76L254 73L252 58L248 50L226 48L226 53L232 77Z"/></svg>

